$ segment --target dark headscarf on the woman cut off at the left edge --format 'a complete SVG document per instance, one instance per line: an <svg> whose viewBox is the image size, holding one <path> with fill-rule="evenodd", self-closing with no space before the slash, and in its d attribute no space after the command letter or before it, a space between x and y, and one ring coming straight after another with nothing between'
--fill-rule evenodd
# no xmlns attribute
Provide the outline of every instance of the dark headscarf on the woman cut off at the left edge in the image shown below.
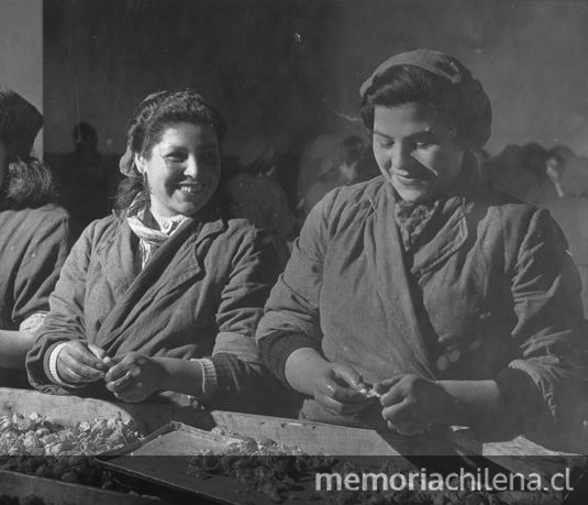
<svg viewBox="0 0 588 505"><path fill-rule="evenodd" d="M43 127L43 116L10 89L0 89L0 140L14 156L26 158Z"/></svg>

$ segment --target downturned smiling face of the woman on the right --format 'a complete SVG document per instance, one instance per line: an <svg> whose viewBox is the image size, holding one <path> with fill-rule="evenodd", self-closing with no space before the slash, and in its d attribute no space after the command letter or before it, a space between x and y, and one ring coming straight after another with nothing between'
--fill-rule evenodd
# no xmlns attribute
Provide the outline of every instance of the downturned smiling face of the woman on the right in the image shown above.
<svg viewBox="0 0 588 505"><path fill-rule="evenodd" d="M407 201L447 189L464 161L455 130L413 102L375 107L373 149L381 174Z"/></svg>

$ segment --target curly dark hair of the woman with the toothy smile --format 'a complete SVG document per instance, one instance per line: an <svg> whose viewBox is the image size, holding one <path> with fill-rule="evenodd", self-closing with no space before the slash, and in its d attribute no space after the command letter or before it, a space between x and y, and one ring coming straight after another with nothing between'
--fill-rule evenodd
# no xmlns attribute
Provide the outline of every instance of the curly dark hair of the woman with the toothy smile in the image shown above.
<svg viewBox="0 0 588 505"><path fill-rule="evenodd" d="M132 116L126 131L127 150L131 154L147 156L164 130L178 122L211 127L219 144L226 132L221 113L195 89L159 91L145 98ZM119 184L114 201L117 211L126 209L140 191L147 189L138 172L132 172Z"/></svg>

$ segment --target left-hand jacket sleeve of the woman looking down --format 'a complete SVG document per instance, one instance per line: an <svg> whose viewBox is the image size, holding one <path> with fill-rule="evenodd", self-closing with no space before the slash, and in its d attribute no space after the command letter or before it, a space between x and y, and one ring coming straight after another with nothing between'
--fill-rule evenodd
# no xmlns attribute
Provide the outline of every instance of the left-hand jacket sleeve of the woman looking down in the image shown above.
<svg viewBox="0 0 588 505"><path fill-rule="evenodd" d="M284 367L293 351L304 347L321 350L319 297L328 222L336 194L330 193L309 213L257 328L264 362L285 384Z"/></svg>

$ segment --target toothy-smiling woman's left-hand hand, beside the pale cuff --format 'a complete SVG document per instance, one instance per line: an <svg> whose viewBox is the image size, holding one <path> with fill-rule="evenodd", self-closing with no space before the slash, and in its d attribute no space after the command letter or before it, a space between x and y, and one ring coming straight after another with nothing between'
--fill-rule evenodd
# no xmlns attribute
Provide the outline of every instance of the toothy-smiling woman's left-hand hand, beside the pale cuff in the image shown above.
<svg viewBox="0 0 588 505"><path fill-rule="evenodd" d="M81 340L67 342L57 355L57 374L67 384L80 385L104 376L104 350Z"/></svg>

